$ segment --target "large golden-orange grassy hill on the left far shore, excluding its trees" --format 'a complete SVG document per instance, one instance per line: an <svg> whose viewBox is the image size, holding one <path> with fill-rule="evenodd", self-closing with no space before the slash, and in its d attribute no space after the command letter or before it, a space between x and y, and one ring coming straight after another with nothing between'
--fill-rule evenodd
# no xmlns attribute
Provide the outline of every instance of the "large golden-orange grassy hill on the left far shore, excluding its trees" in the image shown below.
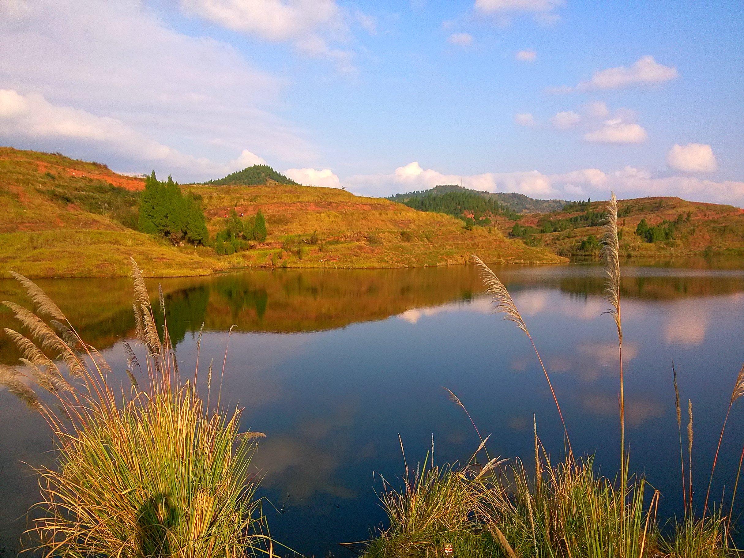
<svg viewBox="0 0 744 558"><path fill-rule="evenodd" d="M272 171L273 172L273 171ZM173 246L135 231L144 181L102 164L0 147L0 277L122 277L135 257L150 276L208 275L263 267L379 268L490 262L557 263L545 248L510 240L496 228L467 230L461 219L423 213L344 190L280 184L186 185L214 239L231 210L258 210L269 236L219 256L208 246Z"/></svg>

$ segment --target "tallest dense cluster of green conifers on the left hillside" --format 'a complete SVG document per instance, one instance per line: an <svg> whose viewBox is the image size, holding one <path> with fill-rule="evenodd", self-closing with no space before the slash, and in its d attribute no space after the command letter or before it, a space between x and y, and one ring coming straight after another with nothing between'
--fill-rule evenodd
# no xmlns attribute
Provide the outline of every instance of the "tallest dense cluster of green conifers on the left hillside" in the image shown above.
<svg viewBox="0 0 744 558"><path fill-rule="evenodd" d="M145 179L140 196L138 228L140 231L168 238L174 245L187 241L207 244L209 233L199 199L184 196L178 183L168 176L161 182L155 171Z"/></svg>

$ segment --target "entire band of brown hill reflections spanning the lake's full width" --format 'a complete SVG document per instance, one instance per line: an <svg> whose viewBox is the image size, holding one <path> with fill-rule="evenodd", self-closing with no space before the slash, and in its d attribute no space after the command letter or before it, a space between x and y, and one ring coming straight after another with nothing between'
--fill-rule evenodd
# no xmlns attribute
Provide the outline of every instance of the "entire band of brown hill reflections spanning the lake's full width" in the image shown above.
<svg viewBox="0 0 744 558"><path fill-rule="evenodd" d="M504 266L497 269L512 290L547 288L600 296L599 266ZM705 297L744 291L744 274L736 271L626 269L623 296L647 300ZM467 300L481 292L471 266L376 270L253 271L206 278L160 281L166 298L173 341L187 332L237 330L292 333L328 330L358 321L388 318L416 307ZM132 286L124 279L39 280L68 318L96 347L110 347L134 329ZM153 300L155 280L148 280ZM28 300L10 280L0 281L0 299ZM161 318L160 318L161 319ZM0 310L0 327L16 328L10 312ZM7 336L0 336L0 361L18 357Z"/></svg>

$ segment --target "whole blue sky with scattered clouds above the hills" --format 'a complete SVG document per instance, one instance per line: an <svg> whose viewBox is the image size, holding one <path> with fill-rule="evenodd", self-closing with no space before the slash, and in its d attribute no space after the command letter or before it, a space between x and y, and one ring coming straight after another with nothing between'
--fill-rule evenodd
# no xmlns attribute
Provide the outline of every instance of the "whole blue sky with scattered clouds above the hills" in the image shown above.
<svg viewBox="0 0 744 558"><path fill-rule="evenodd" d="M743 28L740 0L0 0L0 144L744 207Z"/></svg>

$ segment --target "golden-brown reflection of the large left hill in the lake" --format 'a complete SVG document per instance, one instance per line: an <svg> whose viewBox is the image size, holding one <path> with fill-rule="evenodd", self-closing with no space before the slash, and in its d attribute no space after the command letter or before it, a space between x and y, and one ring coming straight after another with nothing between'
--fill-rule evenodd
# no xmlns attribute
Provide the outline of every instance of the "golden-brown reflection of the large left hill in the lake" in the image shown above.
<svg viewBox="0 0 744 558"><path fill-rule="evenodd" d="M469 299L480 289L478 277L469 266L255 271L159 282L166 299L168 328L175 342L187 332L198 331L202 322L205 330L227 330L232 324L243 331L328 330L357 321L388 318L413 307ZM110 347L134 330L132 286L128 280L37 283L57 301L83 339L96 347ZM147 283L156 300L158 282ZM21 289L9 280L0 281L0 297L30 306ZM10 312L0 310L0 327L17 326ZM7 337L0 336L0 361L13 361L17 356Z"/></svg>

